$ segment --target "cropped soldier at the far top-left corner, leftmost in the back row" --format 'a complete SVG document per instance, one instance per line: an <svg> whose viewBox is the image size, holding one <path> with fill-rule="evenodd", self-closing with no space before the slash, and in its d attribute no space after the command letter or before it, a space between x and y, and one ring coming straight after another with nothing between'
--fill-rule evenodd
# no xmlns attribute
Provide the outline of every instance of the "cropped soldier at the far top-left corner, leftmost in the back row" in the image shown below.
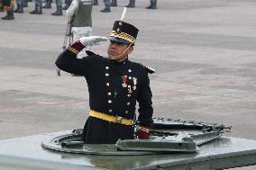
<svg viewBox="0 0 256 170"><path fill-rule="evenodd" d="M0 3L5 11L6 15L2 17L2 20L14 20L14 0L2 0Z"/></svg>

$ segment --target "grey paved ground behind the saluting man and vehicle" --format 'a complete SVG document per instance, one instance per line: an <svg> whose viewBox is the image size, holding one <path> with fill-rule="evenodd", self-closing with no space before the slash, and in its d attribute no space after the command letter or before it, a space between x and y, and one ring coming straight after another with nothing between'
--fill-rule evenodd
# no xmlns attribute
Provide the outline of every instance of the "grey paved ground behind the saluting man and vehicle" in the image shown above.
<svg viewBox="0 0 256 170"><path fill-rule="evenodd" d="M118 3L112 13L94 6L94 35L108 36L127 1ZM160 0L158 10L136 3L125 16L140 28L131 59L157 71L155 116L224 123L233 126L228 136L256 139L256 2ZM55 9L32 15L32 7L0 21L0 139L82 128L87 118L84 78L57 76L54 65L67 17L51 16ZM106 45L92 49L105 55Z"/></svg>

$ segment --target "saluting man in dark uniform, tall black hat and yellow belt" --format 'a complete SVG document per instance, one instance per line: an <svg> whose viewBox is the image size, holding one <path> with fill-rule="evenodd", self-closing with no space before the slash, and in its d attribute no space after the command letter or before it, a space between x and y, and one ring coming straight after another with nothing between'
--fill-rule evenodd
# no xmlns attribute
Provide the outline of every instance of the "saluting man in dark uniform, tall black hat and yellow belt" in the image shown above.
<svg viewBox="0 0 256 170"><path fill-rule="evenodd" d="M56 65L69 73L87 79L90 112L84 127L87 144L114 144L118 139L134 139L133 121L136 101L139 103L139 139L149 138L152 123L149 67L130 61L138 29L130 23L114 22L108 46L108 58L87 51L85 58L76 58L87 45L106 40L103 37L83 37L65 49Z"/></svg>

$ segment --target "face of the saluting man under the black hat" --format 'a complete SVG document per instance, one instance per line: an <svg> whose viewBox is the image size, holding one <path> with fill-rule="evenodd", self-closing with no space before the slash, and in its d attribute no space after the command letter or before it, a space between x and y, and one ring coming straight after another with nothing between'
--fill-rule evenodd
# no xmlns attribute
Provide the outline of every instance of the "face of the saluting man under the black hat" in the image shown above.
<svg viewBox="0 0 256 170"><path fill-rule="evenodd" d="M108 54L108 58L118 61L125 58L132 51L133 51L133 46L129 47L129 44L123 44L114 40L110 40L107 54Z"/></svg>

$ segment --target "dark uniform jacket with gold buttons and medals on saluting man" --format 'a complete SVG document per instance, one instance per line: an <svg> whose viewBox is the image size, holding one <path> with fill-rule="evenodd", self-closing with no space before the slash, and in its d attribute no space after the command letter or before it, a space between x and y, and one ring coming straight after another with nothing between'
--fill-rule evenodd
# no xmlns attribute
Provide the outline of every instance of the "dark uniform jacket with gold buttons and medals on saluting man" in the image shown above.
<svg viewBox="0 0 256 170"><path fill-rule="evenodd" d="M115 62L90 51L87 54L85 58L76 58L75 53L66 49L59 55L56 65L63 71L86 77L90 109L133 120L137 101L138 121L150 125L153 109L149 69L128 58ZM85 130L90 133L86 134L86 143L115 143L117 139L133 139L133 126L92 117L88 118Z"/></svg>

